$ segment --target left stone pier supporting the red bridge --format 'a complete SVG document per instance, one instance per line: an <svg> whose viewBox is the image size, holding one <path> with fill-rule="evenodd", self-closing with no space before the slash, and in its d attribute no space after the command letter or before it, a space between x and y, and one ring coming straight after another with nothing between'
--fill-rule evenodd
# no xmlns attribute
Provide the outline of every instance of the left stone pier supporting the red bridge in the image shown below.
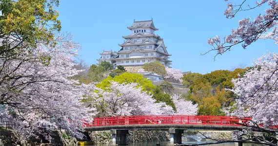
<svg viewBox="0 0 278 146"><path fill-rule="evenodd" d="M112 146L127 145L126 136L128 130L110 129L110 132L112 134Z"/></svg>

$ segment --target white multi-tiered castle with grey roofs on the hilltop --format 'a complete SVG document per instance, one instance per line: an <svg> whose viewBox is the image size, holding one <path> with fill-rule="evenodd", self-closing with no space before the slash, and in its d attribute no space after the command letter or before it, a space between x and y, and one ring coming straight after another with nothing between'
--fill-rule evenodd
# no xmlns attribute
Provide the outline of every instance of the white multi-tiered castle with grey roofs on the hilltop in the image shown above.
<svg viewBox="0 0 278 146"><path fill-rule="evenodd" d="M148 62L159 61L165 66L170 66L171 62L163 38L155 34L159 30L155 27L153 19L147 21L135 21L132 26L127 27L131 34L124 36L126 39L119 44L121 49L118 52L103 51L101 61L109 61L114 66L142 66Z"/></svg>

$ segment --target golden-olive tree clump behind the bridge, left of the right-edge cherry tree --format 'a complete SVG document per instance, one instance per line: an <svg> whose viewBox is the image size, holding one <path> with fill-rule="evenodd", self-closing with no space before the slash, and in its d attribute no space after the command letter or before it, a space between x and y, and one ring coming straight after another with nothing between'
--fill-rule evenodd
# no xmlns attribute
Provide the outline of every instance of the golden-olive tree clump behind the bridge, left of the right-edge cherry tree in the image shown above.
<svg viewBox="0 0 278 146"><path fill-rule="evenodd" d="M233 72L217 70L204 75L184 74L183 84L190 89L186 98L199 104L198 113L201 115L223 115L221 107L229 106L236 98L233 92L225 89L232 89L232 78L237 78L244 71L245 69L236 69Z"/></svg>

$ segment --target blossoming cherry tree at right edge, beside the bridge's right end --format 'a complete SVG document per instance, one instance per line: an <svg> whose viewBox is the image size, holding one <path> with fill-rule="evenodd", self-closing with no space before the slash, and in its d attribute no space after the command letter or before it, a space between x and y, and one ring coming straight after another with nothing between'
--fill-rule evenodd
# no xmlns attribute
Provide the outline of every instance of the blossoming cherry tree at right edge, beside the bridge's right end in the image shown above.
<svg viewBox="0 0 278 146"><path fill-rule="evenodd" d="M258 58L243 77L233 80L238 95L235 115L252 117L265 127L278 125L278 54Z"/></svg>

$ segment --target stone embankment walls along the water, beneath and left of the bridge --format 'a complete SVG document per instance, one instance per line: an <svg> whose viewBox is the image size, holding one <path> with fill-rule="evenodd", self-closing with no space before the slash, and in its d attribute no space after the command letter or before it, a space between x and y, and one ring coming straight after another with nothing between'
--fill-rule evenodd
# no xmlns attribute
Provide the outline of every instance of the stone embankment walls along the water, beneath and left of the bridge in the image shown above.
<svg viewBox="0 0 278 146"><path fill-rule="evenodd" d="M206 137L219 140L231 140L232 131L200 131ZM73 146L77 145L77 139L68 136L64 130L56 131L57 135L54 139L54 143L61 146ZM182 135L182 141L204 141L204 136L197 131L184 131ZM99 144L111 144L112 134L108 131L94 131L90 133L92 142ZM127 136L128 143L137 142L162 142L169 141L170 136L168 131L163 130L130 130ZM34 139L32 141L26 141L19 136L15 130L0 130L0 146L35 146L35 145L49 145L49 142L45 142L42 139Z"/></svg>

